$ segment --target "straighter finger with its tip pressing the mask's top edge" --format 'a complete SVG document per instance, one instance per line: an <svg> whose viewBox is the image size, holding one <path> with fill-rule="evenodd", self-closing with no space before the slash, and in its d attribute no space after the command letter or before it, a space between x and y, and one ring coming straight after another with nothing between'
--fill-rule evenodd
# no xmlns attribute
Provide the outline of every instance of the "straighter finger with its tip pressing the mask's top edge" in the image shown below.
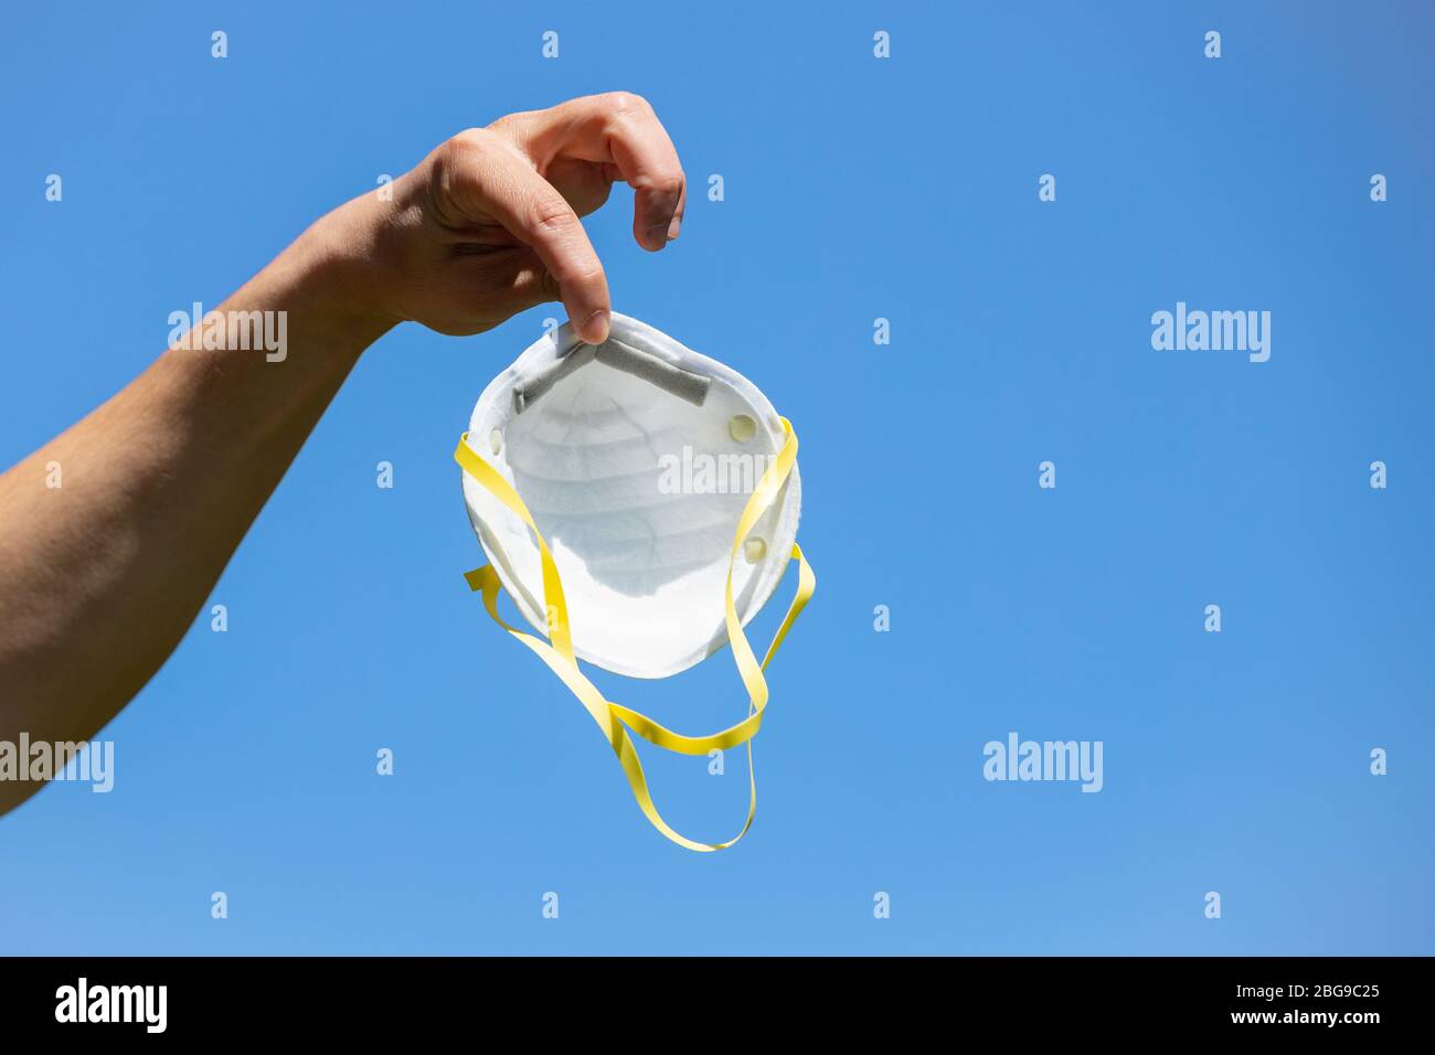
<svg viewBox="0 0 1435 1055"><path fill-rule="evenodd" d="M476 131L455 142L445 172L455 200L468 201L474 212L489 212L532 247L558 283L574 330L590 344L601 344L613 314L608 281L578 214L501 136Z"/></svg>

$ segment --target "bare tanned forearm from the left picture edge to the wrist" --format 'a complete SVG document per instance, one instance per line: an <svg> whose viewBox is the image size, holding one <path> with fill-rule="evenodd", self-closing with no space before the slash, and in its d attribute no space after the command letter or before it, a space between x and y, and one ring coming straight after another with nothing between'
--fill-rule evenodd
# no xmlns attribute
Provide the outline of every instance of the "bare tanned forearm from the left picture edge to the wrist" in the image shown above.
<svg viewBox="0 0 1435 1055"><path fill-rule="evenodd" d="M0 741L89 739L184 636L359 353L392 324L363 296L377 208L359 200L324 217L218 309L284 313L283 359L171 347L0 475ZM37 787L0 781L0 812Z"/></svg>

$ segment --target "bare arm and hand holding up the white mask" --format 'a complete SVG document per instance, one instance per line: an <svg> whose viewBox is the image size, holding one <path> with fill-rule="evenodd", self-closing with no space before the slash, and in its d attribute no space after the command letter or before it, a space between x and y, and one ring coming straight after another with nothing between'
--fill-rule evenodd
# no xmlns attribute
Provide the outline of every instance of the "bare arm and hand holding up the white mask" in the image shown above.
<svg viewBox="0 0 1435 1055"><path fill-rule="evenodd" d="M166 349L0 475L0 741L92 739L174 652L366 347L400 322L488 330L560 300L601 343L611 306L580 217L616 181L633 237L679 234L677 152L614 92L461 132L340 205L218 311L287 311L287 356ZM49 464L63 485L46 485ZM43 782L0 781L0 812Z"/></svg>

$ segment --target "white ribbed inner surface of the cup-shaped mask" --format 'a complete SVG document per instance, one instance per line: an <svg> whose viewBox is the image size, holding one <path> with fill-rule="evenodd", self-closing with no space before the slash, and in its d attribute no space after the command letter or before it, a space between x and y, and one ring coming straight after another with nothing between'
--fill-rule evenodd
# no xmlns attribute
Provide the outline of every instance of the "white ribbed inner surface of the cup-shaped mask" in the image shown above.
<svg viewBox="0 0 1435 1055"><path fill-rule="evenodd" d="M603 355L607 346L581 347L590 355L561 360L574 365L541 388L541 412L515 415L504 446L515 488L563 573L574 640L611 657L611 669L634 672L653 655L705 655L726 640L722 596L733 527L775 454L765 429L742 442L729 422L762 412L725 382L700 378L699 399L687 399L696 386L679 379L674 392L654 380L667 372L624 369ZM621 362L647 359L657 357ZM524 390L532 408L532 383ZM755 535L773 537L781 507L779 495ZM739 555L739 611L761 568Z"/></svg>

